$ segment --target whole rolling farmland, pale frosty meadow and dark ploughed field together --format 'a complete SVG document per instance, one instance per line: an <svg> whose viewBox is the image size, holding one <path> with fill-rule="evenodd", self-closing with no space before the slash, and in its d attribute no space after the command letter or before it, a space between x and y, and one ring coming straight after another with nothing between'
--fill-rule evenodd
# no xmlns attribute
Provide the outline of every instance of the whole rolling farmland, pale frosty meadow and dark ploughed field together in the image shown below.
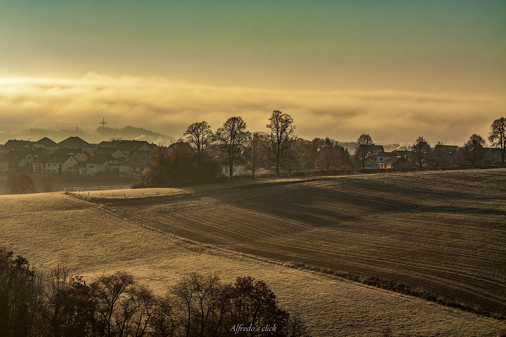
<svg viewBox="0 0 506 337"><path fill-rule="evenodd" d="M58 193L0 196L0 244L41 268L63 262L90 277L128 270L158 291L195 270L263 278L283 305L299 304L315 335L373 336L390 326L398 335L495 336L504 322L227 253L439 284L500 308L504 171L443 174L340 177L115 207Z"/></svg>

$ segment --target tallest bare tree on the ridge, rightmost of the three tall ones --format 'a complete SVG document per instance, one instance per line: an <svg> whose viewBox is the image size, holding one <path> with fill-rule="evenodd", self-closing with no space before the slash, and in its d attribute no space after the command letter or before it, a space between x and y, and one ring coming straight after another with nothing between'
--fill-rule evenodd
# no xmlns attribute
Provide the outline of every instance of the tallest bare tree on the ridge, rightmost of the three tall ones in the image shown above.
<svg viewBox="0 0 506 337"><path fill-rule="evenodd" d="M293 145L297 136L293 118L290 115L274 110L269 121L270 123L266 126L270 130L266 136L267 158L276 166L276 173L279 173L280 161L285 158L287 150Z"/></svg>

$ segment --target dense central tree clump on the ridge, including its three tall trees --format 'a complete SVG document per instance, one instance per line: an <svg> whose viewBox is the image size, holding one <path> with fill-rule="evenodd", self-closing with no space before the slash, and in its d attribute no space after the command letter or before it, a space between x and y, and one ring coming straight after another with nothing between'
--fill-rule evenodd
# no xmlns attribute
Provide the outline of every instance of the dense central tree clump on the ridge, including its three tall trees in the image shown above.
<svg viewBox="0 0 506 337"><path fill-rule="evenodd" d="M328 137L312 141L298 137L288 114L273 111L266 128L266 132L251 133L239 116L230 117L215 132L206 121L192 123L183 133L186 138L151 155L144 184L209 181L220 173L221 166L228 168L230 177L237 165L249 170L252 177L262 167L291 174L302 169L301 163L311 169L351 168L348 149Z"/></svg>

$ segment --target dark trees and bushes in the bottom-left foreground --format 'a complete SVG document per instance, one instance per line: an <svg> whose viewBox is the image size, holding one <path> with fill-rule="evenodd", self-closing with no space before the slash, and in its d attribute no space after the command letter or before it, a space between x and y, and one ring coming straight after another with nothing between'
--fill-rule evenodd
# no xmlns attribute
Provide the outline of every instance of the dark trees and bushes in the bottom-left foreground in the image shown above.
<svg viewBox="0 0 506 337"><path fill-rule="evenodd" d="M0 248L2 337L307 335L300 313L281 308L270 287L250 276L226 283L193 272L156 295L124 271L88 283L62 266L39 272Z"/></svg>

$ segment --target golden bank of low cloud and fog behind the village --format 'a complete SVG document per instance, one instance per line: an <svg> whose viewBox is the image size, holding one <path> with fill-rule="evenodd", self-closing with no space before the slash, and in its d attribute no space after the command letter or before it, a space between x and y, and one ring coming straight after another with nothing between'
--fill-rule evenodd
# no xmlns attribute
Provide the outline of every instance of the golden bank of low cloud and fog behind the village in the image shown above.
<svg viewBox="0 0 506 337"><path fill-rule="evenodd" d="M377 143L412 143L423 135L459 144L472 133L488 134L492 121L506 115L506 95L211 87L95 73L77 80L0 78L0 120L33 123L23 127L48 121L98 123L105 117L110 126L133 125L179 137L192 122L206 120L216 129L231 116L241 116L250 130L264 131L273 110L290 114L305 138L350 141L366 132Z"/></svg>

